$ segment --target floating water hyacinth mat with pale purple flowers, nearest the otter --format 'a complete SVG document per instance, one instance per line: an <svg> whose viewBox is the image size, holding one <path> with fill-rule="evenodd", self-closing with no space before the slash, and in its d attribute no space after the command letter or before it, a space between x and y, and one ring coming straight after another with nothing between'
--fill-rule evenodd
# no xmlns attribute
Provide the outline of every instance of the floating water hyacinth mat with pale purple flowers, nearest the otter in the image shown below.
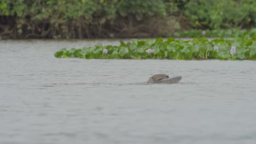
<svg viewBox="0 0 256 144"><path fill-rule="evenodd" d="M235 46L235 53L231 47ZM104 53L103 50L107 50ZM84 47L83 49L61 49L55 52L55 57L78 57L86 59L254 59L256 60L256 37L214 39L206 38L193 40L175 40L168 38L166 41L157 38L138 41L133 39L129 43L120 41L119 46L102 46L101 44Z"/></svg>

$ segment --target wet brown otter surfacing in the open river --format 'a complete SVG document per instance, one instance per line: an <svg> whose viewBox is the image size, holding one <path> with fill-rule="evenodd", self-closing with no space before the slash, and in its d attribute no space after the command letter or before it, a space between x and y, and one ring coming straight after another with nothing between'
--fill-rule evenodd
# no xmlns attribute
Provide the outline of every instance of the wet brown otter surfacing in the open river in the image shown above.
<svg viewBox="0 0 256 144"><path fill-rule="evenodd" d="M182 76L169 77L166 74L156 74L149 77L147 84L149 83L177 83L182 79Z"/></svg>

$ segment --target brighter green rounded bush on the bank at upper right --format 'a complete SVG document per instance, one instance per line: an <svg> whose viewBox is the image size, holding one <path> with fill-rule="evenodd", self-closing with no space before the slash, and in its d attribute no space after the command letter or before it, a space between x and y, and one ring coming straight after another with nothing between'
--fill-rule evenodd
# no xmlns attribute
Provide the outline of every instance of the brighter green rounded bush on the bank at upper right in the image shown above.
<svg viewBox="0 0 256 144"><path fill-rule="evenodd" d="M243 27L256 22L254 0L191 0L184 14L193 27Z"/></svg>

